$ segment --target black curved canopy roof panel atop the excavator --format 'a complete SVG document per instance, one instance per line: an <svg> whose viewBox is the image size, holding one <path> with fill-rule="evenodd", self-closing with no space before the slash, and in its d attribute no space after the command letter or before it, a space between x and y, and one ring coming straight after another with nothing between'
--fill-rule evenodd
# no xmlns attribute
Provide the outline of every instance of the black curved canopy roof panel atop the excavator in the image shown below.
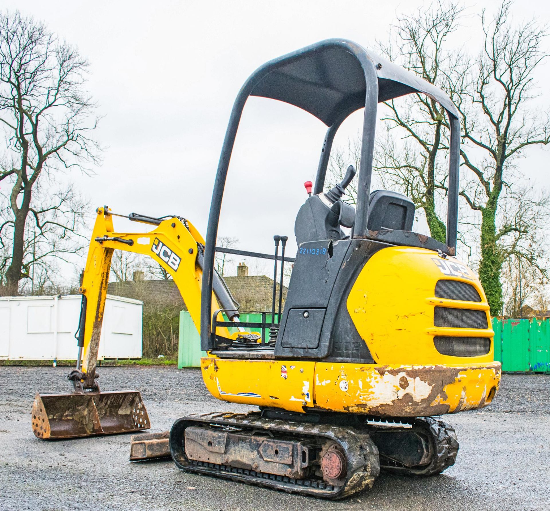
<svg viewBox="0 0 550 511"><path fill-rule="evenodd" d="M422 92L458 118L440 89L398 65L345 39L327 39L276 58L250 77L258 83L250 96L268 97L303 108L330 126L342 114L365 106L365 63L376 66L378 102Z"/></svg>

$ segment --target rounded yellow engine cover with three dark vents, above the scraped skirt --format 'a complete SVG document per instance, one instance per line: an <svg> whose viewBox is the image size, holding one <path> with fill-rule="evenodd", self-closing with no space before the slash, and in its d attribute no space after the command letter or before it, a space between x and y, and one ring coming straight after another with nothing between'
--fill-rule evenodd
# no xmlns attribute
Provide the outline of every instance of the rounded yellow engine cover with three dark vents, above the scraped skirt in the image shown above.
<svg viewBox="0 0 550 511"><path fill-rule="evenodd" d="M438 282L473 287L469 290L477 292L478 301L437 297ZM461 289L448 294L460 293ZM362 268L346 305L379 365L469 365L493 361L494 332L487 298L474 272L455 257L443 258L432 250L412 247L379 250ZM446 311L452 314L447 321ZM436 318L440 319L439 325L456 321L455 325L463 327L436 326ZM480 321L485 321L485 328L479 328ZM472 323L470 326L477 322L477 328L468 327L468 322ZM436 348L434 338L443 338L440 342L454 338L485 339L477 346L470 344L478 353L486 353L445 355ZM467 351L467 345L462 351ZM472 352L475 350L470 350L470 355Z"/></svg>

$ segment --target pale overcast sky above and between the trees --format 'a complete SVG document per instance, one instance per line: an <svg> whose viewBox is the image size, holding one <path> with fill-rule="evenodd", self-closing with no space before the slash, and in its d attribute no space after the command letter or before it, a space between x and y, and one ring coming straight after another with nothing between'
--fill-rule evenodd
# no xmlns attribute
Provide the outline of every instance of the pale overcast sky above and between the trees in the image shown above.
<svg viewBox="0 0 550 511"><path fill-rule="evenodd" d="M206 235L213 179L229 113L246 78L264 62L329 37L365 47L387 37L396 13L423 2L4 0L8 9L46 21L89 59L89 91L105 116L97 138L107 146L93 177L72 179L93 208L190 219ZM476 46L481 1L463 23ZM518 2L516 20L550 20L548 2ZM464 37L469 35L469 37ZM550 62L544 76L550 78ZM360 129L354 114L335 144ZM240 248L271 252L273 234L294 241L294 219L313 180L326 127L284 103L250 98L229 169L219 234ZM537 150L522 171L548 185L547 156ZM136 224L120 229L135 230ZM295 251L295 244L290 251Z"/></svg>

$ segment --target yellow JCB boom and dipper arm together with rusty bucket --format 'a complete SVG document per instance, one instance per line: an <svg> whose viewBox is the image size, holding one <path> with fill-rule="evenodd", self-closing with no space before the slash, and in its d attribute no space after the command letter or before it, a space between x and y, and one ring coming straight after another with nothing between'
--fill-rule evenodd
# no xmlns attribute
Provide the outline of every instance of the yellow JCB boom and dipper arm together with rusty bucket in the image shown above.
<svg viewBox="0 0 550 511"><path fill-rule="evenodd" d="M83 300L78 361L76 369L69 375L75 392L36 394L32 407L32 429L38 438L107 435L151 427L138 391L100 392L96 383L97 353L114 250L147 255L158 262L171 274L195 326L200 328L204 239L193 224L183 218L156 219L134 213L128 218L154 227L146 233L115 232L112 213L107 207L97 208L80 288ZM226 316L235 321L238 312L234 300L217 274L215 280L212 310L223 309ZM217 319L223 320L221 313ZM218 327L216 333L229 336L226 327Z"/></svg>

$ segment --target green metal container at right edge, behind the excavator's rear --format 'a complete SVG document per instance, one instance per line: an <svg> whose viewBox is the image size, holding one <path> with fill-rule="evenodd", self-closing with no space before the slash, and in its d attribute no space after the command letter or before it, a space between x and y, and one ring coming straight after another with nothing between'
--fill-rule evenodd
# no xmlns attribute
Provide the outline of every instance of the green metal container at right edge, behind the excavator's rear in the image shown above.
<svg viewBox="0 0 550 511"><path fill-rule="evenodd" d="M550 318L493 318L494 359L509 372L550 372Z"/></svg>

